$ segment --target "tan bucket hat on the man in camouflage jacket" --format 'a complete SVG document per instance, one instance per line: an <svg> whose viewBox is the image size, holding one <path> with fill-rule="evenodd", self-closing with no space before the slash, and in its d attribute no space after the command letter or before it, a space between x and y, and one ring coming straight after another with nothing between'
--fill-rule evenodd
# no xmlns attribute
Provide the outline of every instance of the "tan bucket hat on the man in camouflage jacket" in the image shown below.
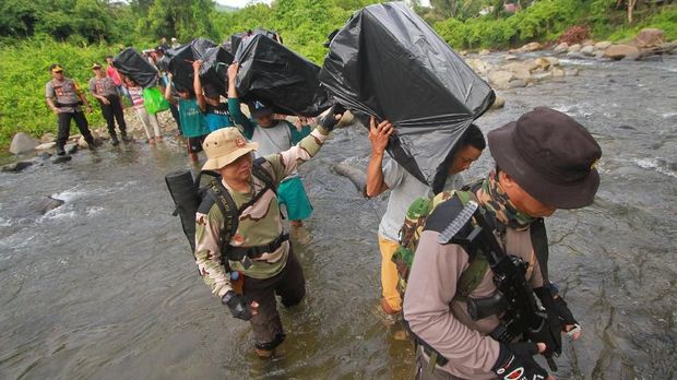
<svg viewBox="0 0 677 380"><path fill-rule="evenodd" d="M202 170L218 170L240 156L259 149L259 143L248 143L242 133L235 128L222 128L210 133L202 143L206 163Z"/></svg>

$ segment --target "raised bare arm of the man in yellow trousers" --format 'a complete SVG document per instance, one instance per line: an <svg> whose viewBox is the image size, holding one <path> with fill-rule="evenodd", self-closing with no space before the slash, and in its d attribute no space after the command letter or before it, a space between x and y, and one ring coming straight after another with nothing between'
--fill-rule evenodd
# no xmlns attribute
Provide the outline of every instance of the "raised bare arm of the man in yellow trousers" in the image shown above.
<svg viewBox="0 0 677 380"><path fill-rule="evenodd" d="M383 180L383 155L388 139L394 133L394 128L389 121L381 121L378 127L376 119L369 120L369 140L371 141L371 157L367 167L367 197L372 198L388 190Z"/></svg>

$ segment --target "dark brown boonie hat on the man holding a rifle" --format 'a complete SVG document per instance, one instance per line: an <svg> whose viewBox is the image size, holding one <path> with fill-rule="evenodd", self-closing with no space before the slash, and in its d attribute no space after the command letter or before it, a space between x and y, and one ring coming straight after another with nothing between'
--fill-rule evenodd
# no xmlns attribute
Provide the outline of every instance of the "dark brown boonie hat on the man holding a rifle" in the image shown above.
<svg viewBox="0 0 677 380"><path fill-rule="evenodd" d="M579 122L537 107L488 134L496 164L538 201L557 209L593 203L602 149Z"/></svg>

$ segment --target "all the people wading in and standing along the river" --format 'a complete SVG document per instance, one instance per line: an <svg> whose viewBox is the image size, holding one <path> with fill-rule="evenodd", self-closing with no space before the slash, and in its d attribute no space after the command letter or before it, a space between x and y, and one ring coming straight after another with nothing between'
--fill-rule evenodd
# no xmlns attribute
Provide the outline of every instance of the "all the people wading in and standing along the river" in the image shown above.
<svg viewBox="0 0 677 380"><path fill-rule="evenodd" d="M344 110L335 105L317 120L293 124L277 118L271 105L254 102L249 119L235 86L238 64L227 70L226 102L201 83L200 67L199 60L193 62L193 88L176 88L169 73L163 83L189 155L198 161L204 151L202 170L219 175L195 213L195 263L233 317L250 322L256 353L270 358L286 336L276 296L292 307L307 292L281 207L286 207L293 230L312 213L297 168L319 152ZM111 144L119 143L115 120L120 139L129 141L121 96L131 98L149 142L162 140L157 120L143 110L139 85L119 78L110 66L107 74L98 63L92 69L88 87L99 102ZM63 76L61 66L52 64L50 72L46 96L58 115L57 154L66 154L71 120L94 149L83 112L91 105L83 91ZM443 168L443 191L436 194L401 163L384 162L396 123L366 120L371 142L366 194L390 190L378 230L380 307L400 316L416 343L416 378L551 378L534 356L542 353L551 360L561 351L560 333L578 339L581 328L549 281L543 218L557 209L593 203L599 145L578 121L546 107L491 130L486 140L470 124ZM462 173L487 145L496 167L468 183ZM421 204L429 210L416 219L411 205L418 200L427 200ZM403 278L393 258L403 247L403 225L413 217L416 245Z"/></svg>

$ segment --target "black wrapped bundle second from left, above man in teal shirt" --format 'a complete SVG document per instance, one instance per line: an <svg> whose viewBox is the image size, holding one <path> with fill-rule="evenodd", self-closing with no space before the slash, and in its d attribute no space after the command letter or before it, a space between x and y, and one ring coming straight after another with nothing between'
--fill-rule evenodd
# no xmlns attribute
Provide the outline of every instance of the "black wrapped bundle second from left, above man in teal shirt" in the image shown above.
<svg viewBox="0 0 677 380"><path fill-rule="evenodd" d="M165 51L169 57L168 71L174 76L174 85L178 91L193 88L193 62L202 59L209 48L216 44L205 38L193 39L190 44Z"/></svg>

